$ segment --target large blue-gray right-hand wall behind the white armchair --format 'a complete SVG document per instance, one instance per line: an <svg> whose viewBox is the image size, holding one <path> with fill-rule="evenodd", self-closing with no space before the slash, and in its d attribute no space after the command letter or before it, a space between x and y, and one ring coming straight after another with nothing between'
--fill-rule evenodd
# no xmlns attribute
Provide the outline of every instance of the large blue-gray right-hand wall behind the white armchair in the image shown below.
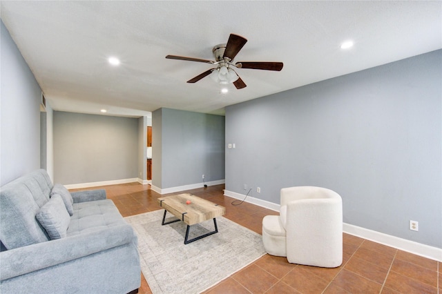
<svg viewBox="0 0 442 294"><path fill-rule="evenodd" d="M331 188L347 224L442 248L441 66L438 50L227 107L226 189Z"/></svg>

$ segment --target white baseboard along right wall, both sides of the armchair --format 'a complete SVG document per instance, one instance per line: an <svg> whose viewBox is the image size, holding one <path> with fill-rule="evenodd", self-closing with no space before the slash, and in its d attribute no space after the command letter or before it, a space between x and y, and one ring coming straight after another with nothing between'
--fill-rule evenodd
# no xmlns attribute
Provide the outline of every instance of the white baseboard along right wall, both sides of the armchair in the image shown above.
<svg viewBox="0 0 442 294"><path fill-rule="evenodd" d="M224 190L224 195L233 197L236 199L244 199L245 195L240 193L232 192L229 190ZM265 208L269 208L271 210L279 211L280 205L274 204L273 202L267 202L262 199L258 199L255 197L247 196L244 202L249 202L251 204L256 204L258 206L262 206ZM363 239L367 239L379 244L383 244L386 246L390 246L401 251L406 251L415 255L419 255L422 257L426 257L429 259L434 259L439 262L442 262L442 248L436 248L432 246L428 246L425 244L421 244L418 242L410 241L407 239L402 239L399 237L394 237L392 235L387 235L384 233L376 232L369 230L367 228L362 228L360 226L354 226L352 224L343 223L343 232L354 235L357 237L361 237Z"/></svg>

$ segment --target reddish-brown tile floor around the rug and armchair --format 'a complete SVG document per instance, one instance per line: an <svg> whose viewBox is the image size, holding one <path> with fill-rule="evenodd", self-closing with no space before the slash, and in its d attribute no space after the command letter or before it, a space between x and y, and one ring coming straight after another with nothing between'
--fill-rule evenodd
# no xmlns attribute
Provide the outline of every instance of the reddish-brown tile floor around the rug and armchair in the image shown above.
<svg viewBox="0 0 442 294"><path fill-rule="evenodd" d="M106 189L124 217L160 209L156 199L166 196L138 183L99 188ZM224 196L223 188L218 185L186 192L226 207L225 217L259 234L262 217L278 214L247 202L233 206L236 199ZM289 264L285 257L264 255L204 293L442 294L442 262L348 234L343 235L343 244L343 264L338 268ZM151 293L143 275L139 293Z"/></svg>

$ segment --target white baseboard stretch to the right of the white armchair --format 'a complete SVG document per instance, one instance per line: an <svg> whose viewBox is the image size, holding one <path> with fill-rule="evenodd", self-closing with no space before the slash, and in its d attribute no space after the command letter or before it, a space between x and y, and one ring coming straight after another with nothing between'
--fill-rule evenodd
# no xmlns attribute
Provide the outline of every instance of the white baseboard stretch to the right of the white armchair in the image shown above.
<svg viewBox="0 0 442 294"><path fill-rule="evenodd" d="M392 235L369 230L360 226L343 223L344 233L361 237L376 243L384 244L425 258L442 262L442 248L436 248L418 242L402 239Z"/></svg>

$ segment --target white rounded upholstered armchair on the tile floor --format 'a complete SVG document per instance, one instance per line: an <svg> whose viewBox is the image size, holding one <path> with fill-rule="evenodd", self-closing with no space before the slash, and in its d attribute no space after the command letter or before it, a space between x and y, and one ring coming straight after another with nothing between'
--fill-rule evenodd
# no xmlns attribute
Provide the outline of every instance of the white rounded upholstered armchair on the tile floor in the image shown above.
<svg viewBox="0 0 442 294"><path fill-rule="evenodd" d="M270 255L292 264L334 268L343 262L343 204L320 187L282 188L280 215L262 219L262 242Z"/></svg>

